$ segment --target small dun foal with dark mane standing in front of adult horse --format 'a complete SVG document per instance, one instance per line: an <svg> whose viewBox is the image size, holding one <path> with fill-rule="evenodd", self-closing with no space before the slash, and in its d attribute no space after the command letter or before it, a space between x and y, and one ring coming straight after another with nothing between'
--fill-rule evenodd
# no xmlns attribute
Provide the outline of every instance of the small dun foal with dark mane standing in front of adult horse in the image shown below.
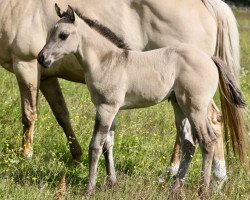
<svg viewBox="0 0 250 200"><path fill-rule="evenodd" d="M240 91L222 63L186 44L148 52L130 51L108 28L81 16L70 6L62 12L56 5L56 11L61 19L39 53L38 61L50 67L64 55L74 53L84 69L96 107L89 146L87 191L94 192L103 148L107 150L108 180L111 184L116 182L113 136L109 135L109 130L119 109L152 106L171 95L175 95L182 116L189 119L192 137L199 142L203 155L202 185L207 189L216 143L216 135L207 119L207 108L218 82L225 86L222 98L234 104L234 108L244 106ZM190 160L182 162L175 189L182 186Z"/></svg>

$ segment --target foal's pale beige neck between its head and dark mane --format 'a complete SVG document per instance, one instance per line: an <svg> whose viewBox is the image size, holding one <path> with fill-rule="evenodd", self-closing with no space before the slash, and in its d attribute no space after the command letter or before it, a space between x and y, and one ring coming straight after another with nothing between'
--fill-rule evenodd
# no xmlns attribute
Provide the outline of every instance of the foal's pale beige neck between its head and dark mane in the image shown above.
<svg viewBox="0 0 250 200"><path fill-rule="evenodd" d="M77 57L81 64L85 66L87 64L84 69L86 73L101 67L107 58L112 59L113 55L123 52L123 49L118 48L96 30L90 28L81 19L79 19L77 29L80 37Z"/></svg>

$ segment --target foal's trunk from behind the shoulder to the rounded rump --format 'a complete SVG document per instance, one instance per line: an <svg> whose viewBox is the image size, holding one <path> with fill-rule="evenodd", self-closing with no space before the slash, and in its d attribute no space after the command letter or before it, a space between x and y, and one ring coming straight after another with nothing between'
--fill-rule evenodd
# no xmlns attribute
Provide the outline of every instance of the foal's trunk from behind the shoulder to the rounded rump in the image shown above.
<svg viewBox="0 0 250 200"><path fill-rule="evenodd" d="M127 59L126 105L154 105L172 92L180 96L205 96L204 100L209 102L218 85L218 71L211 57L191 45L130 51Z"/></svg>

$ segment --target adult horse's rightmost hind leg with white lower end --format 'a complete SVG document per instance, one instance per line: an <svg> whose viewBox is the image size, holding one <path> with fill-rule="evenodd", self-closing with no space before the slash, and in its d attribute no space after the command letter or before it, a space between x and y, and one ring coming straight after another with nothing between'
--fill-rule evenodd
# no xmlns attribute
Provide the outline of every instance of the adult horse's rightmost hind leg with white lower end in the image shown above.
<svg viewBox="0 0 250 200"><path fill-rule="evenodd" d="M222 116L213 101L208 107L208 121L212 125L213 131L217 136L217 143L215 145L213 158L213 172L216 178L214 189L218 191L227 180L227 171L223 147Z"/></svg>

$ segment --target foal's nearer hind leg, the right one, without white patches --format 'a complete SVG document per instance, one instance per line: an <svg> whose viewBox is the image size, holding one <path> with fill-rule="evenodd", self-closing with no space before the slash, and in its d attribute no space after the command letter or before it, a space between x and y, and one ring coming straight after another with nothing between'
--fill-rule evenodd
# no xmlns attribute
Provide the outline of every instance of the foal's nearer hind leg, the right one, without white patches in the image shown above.
<svg viewBox="0 0 250 200"><path fill-rule="evenodd" d="M180 105L181 110L189 119L193 137L198 139L202 150L203 163L201 192L207 192L209 188L212 159L217 140L217 137L207 119L207 108L209 103L205 100L205 98L200 98L200 95L197 97L191 96L190 98L186 98L186 95L181 93L180 97L177 96L177 102Z"/></svg>

